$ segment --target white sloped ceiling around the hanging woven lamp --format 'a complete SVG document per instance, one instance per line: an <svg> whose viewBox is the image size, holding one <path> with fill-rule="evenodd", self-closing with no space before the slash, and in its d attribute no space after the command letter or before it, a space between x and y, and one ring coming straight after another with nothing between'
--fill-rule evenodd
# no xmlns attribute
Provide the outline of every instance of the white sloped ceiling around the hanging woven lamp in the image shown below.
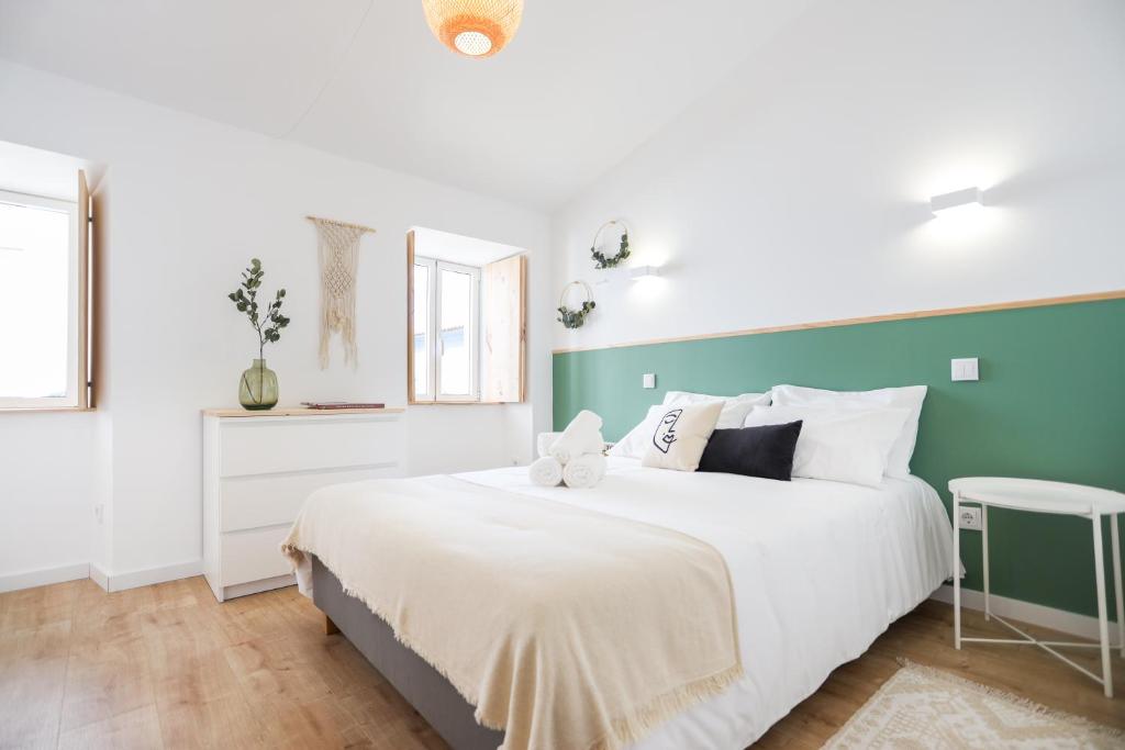
<svg viewBox="0 0 1125 750"><path fill-rule="evenodd" d="M421 0L0 0L0 57L552 208L812 0L525 0L488 60Z"/></svg>

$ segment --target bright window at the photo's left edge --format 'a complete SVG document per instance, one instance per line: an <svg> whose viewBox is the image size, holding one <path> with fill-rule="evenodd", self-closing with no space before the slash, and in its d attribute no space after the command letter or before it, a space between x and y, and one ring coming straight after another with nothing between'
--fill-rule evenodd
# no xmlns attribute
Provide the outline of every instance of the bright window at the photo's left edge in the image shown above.
<svg viewBox="0 0 1125 750"><path fill-rule="evenodd" d="M87 406L82 177L79 196L0 191L0 408Z"/></svg>

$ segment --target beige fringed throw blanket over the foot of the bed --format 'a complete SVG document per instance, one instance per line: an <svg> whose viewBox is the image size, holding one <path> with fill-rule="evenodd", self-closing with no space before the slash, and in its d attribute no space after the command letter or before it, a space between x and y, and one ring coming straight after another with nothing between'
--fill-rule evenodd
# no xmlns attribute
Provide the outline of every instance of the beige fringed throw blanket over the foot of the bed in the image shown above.
<svg viewBox="0 0 1125 750"><path fill-rule="evenodd" d="M321 558L504 748L612 749L742 674L730 578L685 534L452 477L315 493Z"/></svg>

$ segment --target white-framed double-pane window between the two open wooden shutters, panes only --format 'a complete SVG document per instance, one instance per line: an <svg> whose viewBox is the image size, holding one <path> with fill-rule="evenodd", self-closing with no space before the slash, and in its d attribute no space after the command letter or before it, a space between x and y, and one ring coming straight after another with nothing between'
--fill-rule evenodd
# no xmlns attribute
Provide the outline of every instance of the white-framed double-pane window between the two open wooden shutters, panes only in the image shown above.
<svg viewBox="0 0 1125 750"><path fill-rule="evenodd" d="M414 399L479 400L480 269L414 259Z"/></svg>

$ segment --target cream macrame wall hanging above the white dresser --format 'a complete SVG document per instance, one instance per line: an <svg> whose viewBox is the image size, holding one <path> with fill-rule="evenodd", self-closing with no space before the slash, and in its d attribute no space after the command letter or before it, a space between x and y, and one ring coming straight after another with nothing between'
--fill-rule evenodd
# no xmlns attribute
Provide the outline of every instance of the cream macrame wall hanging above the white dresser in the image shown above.
<svg viewBox="0 0 1125 750"><path fill-rule="evenodd" d="M306 216L316 225L321 262L321 369L328 367L328 342L339 333L344 344L344 364L356 369L356 279L359 241L371 227Z"/></svg>

